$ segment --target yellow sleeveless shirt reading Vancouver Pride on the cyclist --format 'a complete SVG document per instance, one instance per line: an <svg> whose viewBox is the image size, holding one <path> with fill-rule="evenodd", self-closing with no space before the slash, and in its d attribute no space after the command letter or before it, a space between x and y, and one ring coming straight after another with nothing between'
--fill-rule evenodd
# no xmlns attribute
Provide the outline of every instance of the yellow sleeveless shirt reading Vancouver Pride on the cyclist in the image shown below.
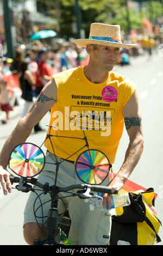
<svg viewBox="0 0 163 256"><path fill-rule="evenodd" d="M136 86L126 77L109 72L100 84L87 80L84 66L52 76L57 84L57 103L51 109L51 120L45 147L62 159L76 161L86 150L101 150L114 163L123 132L122 109L134 94ZM60 137L63 136L63 137ZM76 153L76 154L74 154Z"/></svg>

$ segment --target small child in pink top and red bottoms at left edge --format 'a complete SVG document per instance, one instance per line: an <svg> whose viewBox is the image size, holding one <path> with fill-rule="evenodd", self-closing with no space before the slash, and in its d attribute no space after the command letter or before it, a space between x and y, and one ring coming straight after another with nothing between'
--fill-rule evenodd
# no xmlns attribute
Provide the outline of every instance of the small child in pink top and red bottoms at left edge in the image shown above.
<svg viewBox="0 0 163 256"><path fill-rule="evenodd" d="M6 81L1 81L1 94L0 94L0 102L1 102L1 109L6 113L6 119L3 121L4 124L10 123L9 119L9 112L12 111L12 107L10 106L10 99L9 99L9 92L10 89L7 86Z"/></svg>

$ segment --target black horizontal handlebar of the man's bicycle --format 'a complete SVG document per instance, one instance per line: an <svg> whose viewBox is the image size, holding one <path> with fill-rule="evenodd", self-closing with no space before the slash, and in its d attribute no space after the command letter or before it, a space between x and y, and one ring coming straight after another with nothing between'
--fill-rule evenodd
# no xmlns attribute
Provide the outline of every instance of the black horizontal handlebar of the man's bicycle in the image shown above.
<svg viewBox="0 0 163 256"><path fill-rule="evenodd" d="M11 183L18 183L18 182L20 182L20 180L21 180L20 177L10 176ZM41 184L35 178L22 178L22 182L23 181L24 181L24 183L30 183L30 184L33 184L33 185L37 185L42 189L45 188L45 184ZM53 187L54 186L48 186L46 188L46 191L48 191L48 190L52 191ZM66 191L74 190L76 188L78 188L78 189L90 188L90 190L94 191L94 192L101 192L101 193L108 193L108 194L118 194L117 189L115 190L115 192L112 193L111 192L111 187L99 186L99 185L90 185L90 184L77 184L77 185L72 185L72 186L68 186L68 187L58 187L57 191L58 192L66 192Z"/></svg>

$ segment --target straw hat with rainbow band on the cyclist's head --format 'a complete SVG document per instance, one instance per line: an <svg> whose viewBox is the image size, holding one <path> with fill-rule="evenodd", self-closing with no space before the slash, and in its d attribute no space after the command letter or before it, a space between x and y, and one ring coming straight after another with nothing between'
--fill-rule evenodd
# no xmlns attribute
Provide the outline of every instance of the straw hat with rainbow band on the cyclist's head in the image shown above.
<svg viewBox="0 0 163 256"><path fill-rule="evenodd" d="M92 23L89 39L76 39L74 42L82 47L86 47L87 44L122 48L136 46L136 44L122 44L120 25L107 25L103 23Z"/></svg>

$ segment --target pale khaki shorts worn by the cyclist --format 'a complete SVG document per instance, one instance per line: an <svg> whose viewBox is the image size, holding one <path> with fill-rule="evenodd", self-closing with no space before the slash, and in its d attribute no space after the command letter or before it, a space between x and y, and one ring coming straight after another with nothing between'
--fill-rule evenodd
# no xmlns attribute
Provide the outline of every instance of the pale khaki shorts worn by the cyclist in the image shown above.
<svg viewBox="0 0 163 256"><path fill-rule="evenodd" d="M58 161L60 161L58 157ZM38 181L42 184L49 182L49 185L54 185L55 179L55 156L51 153L46 155L46 164L43 171L39 174ZM109 183L109 175L101 185ZM66 187L74 184L82 184L79 180L74 163L64 161L59 166L57 186ZM36 188L36 186L34 186ZM39 189L39 188L38 188ZM37 191L40 194L40 191ZM93 192L96 193L96 192ZM60 193L59 196L67 196L69 193ZM49 193L41 194L42 208L40 207L40 199L37 198L34 192L30 193L27 200L26 208L24 210L24 224L29 222L36 222L34 208L37 209L36 216L39 223L46 224L48 209L51 206L51 197ZM59 214L64 214L68 208L71 218L71 228L68 238L72 245L107 245L110 237L111 230L111 217L110 214L106 215L105 210L90 210L90 202L85 202L84 199L79 197L66 197L59 200L58 209ZM43 219L41 218L45 216Z"/></svg>

